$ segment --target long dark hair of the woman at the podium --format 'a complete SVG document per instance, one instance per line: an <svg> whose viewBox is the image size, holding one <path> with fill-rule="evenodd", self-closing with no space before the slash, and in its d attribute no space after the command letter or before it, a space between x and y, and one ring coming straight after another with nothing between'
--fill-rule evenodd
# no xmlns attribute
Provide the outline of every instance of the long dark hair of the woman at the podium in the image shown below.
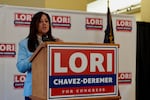
<svg viewBox="0 0 150 100"><path fill-rule="evenodd" d="M40 22L42 15L46 15L48 18L48 21L49 21L49 31L46 33L46 35L48 36L48 39L50 41L55 41L55 39L51 33L51 20L50 20L49 15L45 12L37 12L32 17L32 20L30 23L29 35L27 36L27 38L28 38L28 49L30 52L34 52L39 45L38 39L37 39L37 34L38 34L38 24Z"/></svg>

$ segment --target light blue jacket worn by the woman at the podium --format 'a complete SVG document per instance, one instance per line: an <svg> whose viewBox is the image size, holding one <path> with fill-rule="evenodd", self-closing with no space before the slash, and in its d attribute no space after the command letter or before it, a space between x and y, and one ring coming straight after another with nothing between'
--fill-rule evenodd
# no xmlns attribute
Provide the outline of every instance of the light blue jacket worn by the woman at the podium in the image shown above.
<svg viewBox="0 0 150 100"><path fill-rule="evenodd" d="M18 44L18 58L17 58L17 69L21 73L26 73L26 80L24 82L24 96L32 95L32 64L29 61L32 56L32 52L28 50L28 38L21 40Z"/></svg>

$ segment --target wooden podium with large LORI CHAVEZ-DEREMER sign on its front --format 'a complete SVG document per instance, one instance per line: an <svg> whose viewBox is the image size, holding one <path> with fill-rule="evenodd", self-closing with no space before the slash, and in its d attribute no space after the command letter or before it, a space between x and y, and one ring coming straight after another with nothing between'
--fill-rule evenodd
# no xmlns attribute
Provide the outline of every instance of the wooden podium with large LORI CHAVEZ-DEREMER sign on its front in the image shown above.
<svg viewBox="0 0 150 100"><path fill-rule="evenodd" d="M118 48L118 44L42 43L30 58L32 100L120 100Z"/></svg>

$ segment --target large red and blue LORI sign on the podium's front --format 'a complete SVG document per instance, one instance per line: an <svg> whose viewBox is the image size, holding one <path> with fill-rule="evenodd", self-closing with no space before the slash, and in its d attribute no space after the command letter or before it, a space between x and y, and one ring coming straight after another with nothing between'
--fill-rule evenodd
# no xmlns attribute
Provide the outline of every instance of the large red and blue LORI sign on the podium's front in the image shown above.
<svg viewBox="0 0 150 100"><path fill-rule="evenodd" d="M118 94L118 47L48 45L48 98L95 98Z"/></svg>

